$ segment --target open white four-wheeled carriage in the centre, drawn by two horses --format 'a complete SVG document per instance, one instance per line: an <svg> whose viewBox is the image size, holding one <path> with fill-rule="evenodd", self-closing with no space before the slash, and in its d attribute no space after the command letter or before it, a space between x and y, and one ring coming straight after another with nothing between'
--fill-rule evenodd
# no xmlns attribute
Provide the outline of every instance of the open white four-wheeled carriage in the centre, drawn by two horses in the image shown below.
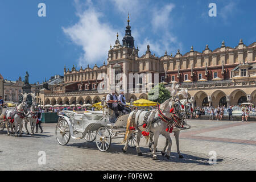
<svg viewBox="0 0 256 182"><path fill-rule="evenodd" d="M57 142L65 145L70 138L85 139L87 142L95 140L100 151L107 151L113 137L124 137L129 114L115 118L105 101L102 101L102 108L102 111L63 111L59 115L55 131ZM76 137L77 135L80 137ZM135 147L136 135L134 131L129 139L129 147Z"/></svg>

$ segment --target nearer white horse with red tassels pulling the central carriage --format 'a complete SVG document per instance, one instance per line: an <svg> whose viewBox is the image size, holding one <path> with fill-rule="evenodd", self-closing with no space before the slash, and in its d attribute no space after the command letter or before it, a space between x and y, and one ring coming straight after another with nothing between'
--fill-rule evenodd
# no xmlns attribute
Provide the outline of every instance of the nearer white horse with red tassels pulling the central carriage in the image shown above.
<svg viewBox="0 0 256 182"><path fill-rule="evenodd" d="M136 127L138 130L137 144L136 144L136 150L137 150L138 155L142 155L141 149L139 148L139 142L141 139L142 132L146 131L147 132L147 134L146 134L147 140L150 138L149 132L154 134L154 148L152 151L153 159L154 160L158 159L157 155L156 155L156 146L158 144L158 138L159 138L160 134L162 134L164 137L166 137L166 139L168 141L166 158L170 159L171 146L172 146L170 131L171 132L175 131L175 126L182 127L182 125L183 125L181 120L178 119L177 116L172 112L172 111L175 111L172 108L174 107L174 103L175 103L174 96L176 96L178 87L179 87L179 85L175 85L175 83L173 83L172 88L170 89L170 93L171 93L172 97L169 98L167 101L165 101L163 104L161 104L159 109L151 110L151 113L148 115L148 117L150 117L151 119L154 118L154 121L151 123L150 127L148 127L148 125L150 125L150 123L148 123L148 124L144 123L144 119L146 117L147 111L134 110L130 113L130 115L127 119L128 121L127 121L127 129L126 129L125 139L123 140L124 143L126 142L125 146L122 149L123 152L127 151L128 139L130 138L132 130L135 129L135 127ZM136 113L135 113L135 111L136 111ZM145 126L146 126L146 128L145 128ZM150 131L148 132L148 130L150 130ZM144 134L145 133L143 133L143 135ZM177 138L179 138L178 134L177 134ZM177 146L179 146L179 144L177 144ZM178 152L179 152L179 149L178 149ZM180 152L179 152L179 154L180 154Z"/></svg>

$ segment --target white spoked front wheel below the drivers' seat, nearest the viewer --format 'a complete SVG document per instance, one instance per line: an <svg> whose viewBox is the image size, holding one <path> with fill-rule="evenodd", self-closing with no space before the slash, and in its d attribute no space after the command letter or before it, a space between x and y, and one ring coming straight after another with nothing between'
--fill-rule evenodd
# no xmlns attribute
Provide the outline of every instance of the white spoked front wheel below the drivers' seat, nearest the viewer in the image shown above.
<svg viewBox="0 0 256 182"><path fill-rule="evenodd" d="M101 126L98 128L96 132L96 144L98 150L102 152L105 152L109 149L111 144L111 134L105 126Z"/></svg>

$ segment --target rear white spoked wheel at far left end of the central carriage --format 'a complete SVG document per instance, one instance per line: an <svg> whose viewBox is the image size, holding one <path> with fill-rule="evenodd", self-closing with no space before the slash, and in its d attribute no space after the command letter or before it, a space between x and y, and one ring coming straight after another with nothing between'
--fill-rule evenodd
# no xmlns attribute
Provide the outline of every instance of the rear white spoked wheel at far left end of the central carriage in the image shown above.
<svg viewBox="0 0 256 182"><path fill-rule="evenodd" d="M68 122L65 119L61 119L56 126L55 135L57 142L64 146L69 142L69 139L71 137Z"/></svg>

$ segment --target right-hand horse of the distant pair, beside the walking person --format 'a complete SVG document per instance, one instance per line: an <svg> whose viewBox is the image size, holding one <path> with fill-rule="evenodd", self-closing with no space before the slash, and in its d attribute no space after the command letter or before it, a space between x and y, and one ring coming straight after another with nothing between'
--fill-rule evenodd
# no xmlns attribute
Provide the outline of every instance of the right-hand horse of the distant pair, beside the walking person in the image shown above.
<svg viewBox="0 0 256 182"><path fill-rule="evenodd" d="M35 125L36 125L36 120L37 120L37 105L36 105L36 100L35 100L35 94L34 93L29 93L32 96L32 105L30 107L30 111L28 111L28 114L26 115L26 118L24 118L25 121L25 128L27 131L27 134L29 135L30 133L28 132L27 129L27 123L30 122L30 127L31 127L31 134L34 134L34 129L35 129Z"/></svg>

